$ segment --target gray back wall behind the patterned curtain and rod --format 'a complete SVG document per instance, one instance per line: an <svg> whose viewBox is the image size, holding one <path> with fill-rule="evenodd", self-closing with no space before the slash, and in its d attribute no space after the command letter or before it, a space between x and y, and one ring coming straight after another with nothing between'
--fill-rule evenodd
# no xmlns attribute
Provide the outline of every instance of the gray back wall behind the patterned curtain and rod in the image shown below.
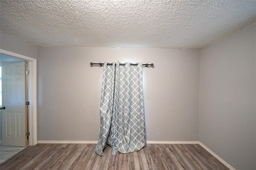
<svg viewBox="0 0 256 170"><path fill-rule="evenodd" d="M38 140L97 141L103 67L143 68L147 141L198 141L199 49L38 47Z"/></svg>

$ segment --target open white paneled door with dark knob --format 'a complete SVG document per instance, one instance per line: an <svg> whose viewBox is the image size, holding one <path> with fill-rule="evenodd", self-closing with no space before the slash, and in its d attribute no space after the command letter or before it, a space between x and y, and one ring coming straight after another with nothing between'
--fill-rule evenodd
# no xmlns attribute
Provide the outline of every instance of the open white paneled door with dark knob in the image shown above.
<svg viewBox="0 0 256 170"><path fill-rule="evenodd" d="M27 146L26 61L2 61L2 145Z"/></svg>

